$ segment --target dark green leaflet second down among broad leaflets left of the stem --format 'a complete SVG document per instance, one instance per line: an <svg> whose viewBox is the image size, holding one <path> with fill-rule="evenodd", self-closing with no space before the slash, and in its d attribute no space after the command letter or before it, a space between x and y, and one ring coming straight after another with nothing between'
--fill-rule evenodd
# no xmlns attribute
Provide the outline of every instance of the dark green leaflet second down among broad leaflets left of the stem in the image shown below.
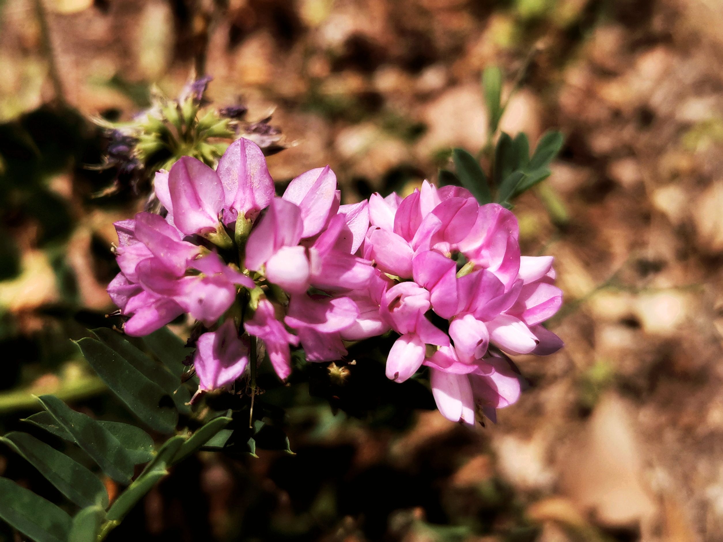
<svg viewBox="0 0 723 542"><path fill-rule="evenodd" d="M76 412L53 395L38 397L43 408L73 436L78 446L117 482L129 483L133 476L133 461L127 450L97 421Z"/></svg>

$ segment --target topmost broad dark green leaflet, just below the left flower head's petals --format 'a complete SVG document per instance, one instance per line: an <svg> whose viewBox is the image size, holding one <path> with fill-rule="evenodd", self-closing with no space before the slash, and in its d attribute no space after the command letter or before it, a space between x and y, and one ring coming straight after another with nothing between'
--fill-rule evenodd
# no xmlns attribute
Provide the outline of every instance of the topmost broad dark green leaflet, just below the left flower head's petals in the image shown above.
<svg viewBox="0 0 723 542"><path fill-rule="evenodd" d="M178 412L171 397L151 382L119 353L99 340L83 338L77 342L85 359L140 421L160 433L171 433L178 423Z"/></svg>

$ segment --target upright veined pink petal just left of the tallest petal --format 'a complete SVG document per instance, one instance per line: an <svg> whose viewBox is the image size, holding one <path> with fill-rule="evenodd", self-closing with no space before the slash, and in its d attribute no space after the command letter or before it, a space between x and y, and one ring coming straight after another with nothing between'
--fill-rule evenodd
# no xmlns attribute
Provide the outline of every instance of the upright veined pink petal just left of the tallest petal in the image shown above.
<svg viewBox="0 0 723 542"><path fill-rule="evenodd" d="M213 169L182 156L168 174L168 192L176 228L187 235L215 231L223 208L223 185Z"/></svg>

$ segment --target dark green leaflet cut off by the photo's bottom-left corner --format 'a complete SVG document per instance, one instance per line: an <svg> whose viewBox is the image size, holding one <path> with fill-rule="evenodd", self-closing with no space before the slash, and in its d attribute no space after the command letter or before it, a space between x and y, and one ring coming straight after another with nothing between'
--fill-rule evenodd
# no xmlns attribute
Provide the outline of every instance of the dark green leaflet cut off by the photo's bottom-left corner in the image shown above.
<svg viewBox="0 0 723 542"><path fill-rule="evenodd" d="M8 478L0 477L0 518L35 542L67 542L71 519L64 510Z"/></svg>

